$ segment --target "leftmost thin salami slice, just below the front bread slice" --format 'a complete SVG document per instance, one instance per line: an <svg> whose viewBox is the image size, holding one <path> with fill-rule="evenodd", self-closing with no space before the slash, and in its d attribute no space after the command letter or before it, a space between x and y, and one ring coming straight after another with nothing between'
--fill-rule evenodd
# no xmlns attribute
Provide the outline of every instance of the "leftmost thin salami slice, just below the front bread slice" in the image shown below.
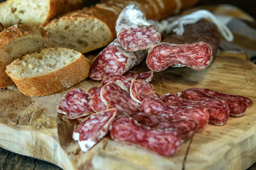
<svg viewBox="0 0 256 170"><path fill-rule="evenodd" d="M80 118L95 113L90 105L89 95L82 89L72 89L61 99L58 106L58 113L64 114L68 119Z"/></svg>

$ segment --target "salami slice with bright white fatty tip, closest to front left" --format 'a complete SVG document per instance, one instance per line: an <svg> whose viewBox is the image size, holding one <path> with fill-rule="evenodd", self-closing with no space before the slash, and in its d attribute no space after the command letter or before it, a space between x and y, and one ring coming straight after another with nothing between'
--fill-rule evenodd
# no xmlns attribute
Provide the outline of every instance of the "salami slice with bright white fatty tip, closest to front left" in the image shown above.
<svg viewBox="0 0 256 170"><path fill-rule="evenodd" d="M87 152L109 132L110 125L117 114L112 108L90 115L73 131L73 140L78 140L80 149Z"/></svg>

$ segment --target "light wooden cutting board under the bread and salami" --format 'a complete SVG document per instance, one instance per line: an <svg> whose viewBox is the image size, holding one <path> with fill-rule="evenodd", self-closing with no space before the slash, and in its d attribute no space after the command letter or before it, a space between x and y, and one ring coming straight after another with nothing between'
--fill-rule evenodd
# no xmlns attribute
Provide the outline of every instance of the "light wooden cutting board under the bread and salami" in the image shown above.
<svg viewBox="0 0 256 170"><path fill-rule="evenodd" d="M145 62L137 72L147 71ZM203 87L238 94L256 103L256 67L235 57L216 57L203 71L169 68L154 73L151 84L160 95ZM70 89L87 90L99 81L86 79ZM68 90L70 90L68 89ZM60 98L68 91L29 97L16 87L0 90L0 146L18 154L52 162L63 169L247 169L256 162L256 104L241 118L204 132L181 145L174 157L161 157L135 145L105 137L89 152L81 152L72 132L80 120L58 115Z"/></svg>

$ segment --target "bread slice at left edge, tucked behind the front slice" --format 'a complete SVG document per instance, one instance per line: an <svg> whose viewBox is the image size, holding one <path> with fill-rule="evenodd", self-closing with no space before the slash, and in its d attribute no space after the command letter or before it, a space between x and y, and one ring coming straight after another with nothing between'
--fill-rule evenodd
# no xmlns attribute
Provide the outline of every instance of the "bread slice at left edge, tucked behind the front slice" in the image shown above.
<svg viewBox="0 0 256 170"><path fill-rule="evenodd" d="M6 66L32 52L51 47L45 30L33 26L15 25L0 33L0 88L14 85L7 76Z"/></svg>

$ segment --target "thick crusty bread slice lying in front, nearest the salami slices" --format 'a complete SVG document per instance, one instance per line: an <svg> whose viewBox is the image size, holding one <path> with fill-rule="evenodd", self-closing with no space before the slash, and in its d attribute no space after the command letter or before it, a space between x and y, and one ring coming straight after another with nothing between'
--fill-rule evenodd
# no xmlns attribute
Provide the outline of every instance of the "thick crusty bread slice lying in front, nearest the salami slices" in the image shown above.
<svg viewBox="0 0 256 170"><path fill-rule="evenodd" d="M50 47L17 59L6 73L27 96L46 96L68 89L88 77L90 64L82 53Z"/></svg>

